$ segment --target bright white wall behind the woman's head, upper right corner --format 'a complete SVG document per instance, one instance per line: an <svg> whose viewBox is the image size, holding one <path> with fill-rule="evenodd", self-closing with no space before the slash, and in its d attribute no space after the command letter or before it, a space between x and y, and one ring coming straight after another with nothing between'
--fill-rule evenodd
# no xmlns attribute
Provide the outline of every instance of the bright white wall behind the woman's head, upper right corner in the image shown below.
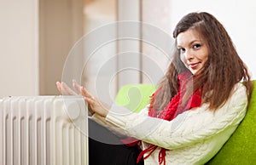
<svg viewBox="0 0 256 165"><path fill-rule="evenodd" d="M171 0L172 31L183 15L207 11L223 23L241 59L256 79L256 3L243 0Z"/></svg>

